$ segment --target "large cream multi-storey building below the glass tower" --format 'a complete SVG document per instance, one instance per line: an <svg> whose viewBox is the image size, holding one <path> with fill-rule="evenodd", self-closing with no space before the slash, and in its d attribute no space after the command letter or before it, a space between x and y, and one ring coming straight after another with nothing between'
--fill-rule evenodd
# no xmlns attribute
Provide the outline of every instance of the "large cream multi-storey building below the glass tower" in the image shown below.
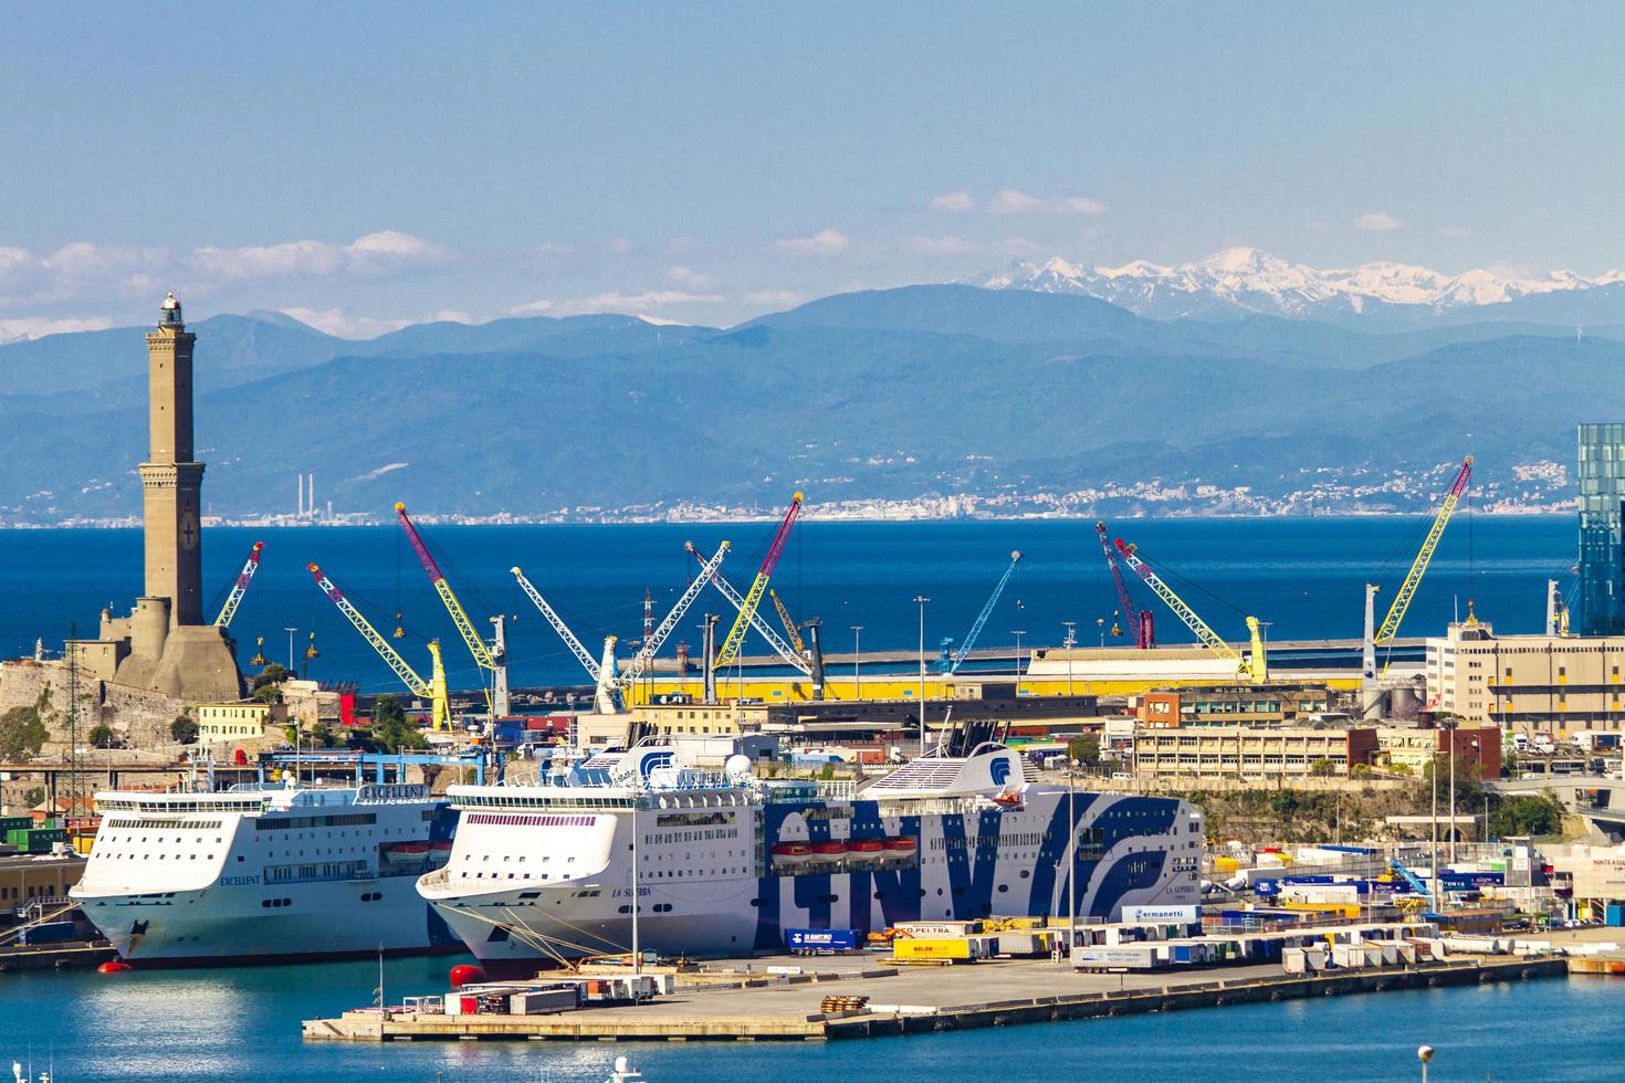
<svg viewBox="0 0 1625 1083"><path fill-rule="evenodd" d="M1484 620L1427 640L1433 710L1565 737L1625 723L1625 636L1495 635Z"/></svg>

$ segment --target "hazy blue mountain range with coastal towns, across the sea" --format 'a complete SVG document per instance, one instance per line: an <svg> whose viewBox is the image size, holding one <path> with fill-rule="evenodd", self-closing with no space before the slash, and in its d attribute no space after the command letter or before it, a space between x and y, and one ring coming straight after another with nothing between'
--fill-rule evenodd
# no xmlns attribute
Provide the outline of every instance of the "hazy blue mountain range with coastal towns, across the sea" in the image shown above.
<svg viewBox="0 0 1625 1083"><path fill-rule="evenodd" d="M1575 422L1625 417L1625 309L1583 334L1511 318L1620 283L1471 305L1329 279L1292 292L1284 274L1175 317L1014 276L733 328L531 317L348 341L280 313L211 317L192 326L205 497L223 516L291 511L292 474L315 472L335 513L377 516L395 500L520 518L770 508L791 489L902 513L947 495L990 513L1422 510L1472 453L1485 507L1537 508L1573 495ZM1349 309L1237 305L1263 309L1266 281ZM0 523L138 513L143 333L0 346Z"/></svg>

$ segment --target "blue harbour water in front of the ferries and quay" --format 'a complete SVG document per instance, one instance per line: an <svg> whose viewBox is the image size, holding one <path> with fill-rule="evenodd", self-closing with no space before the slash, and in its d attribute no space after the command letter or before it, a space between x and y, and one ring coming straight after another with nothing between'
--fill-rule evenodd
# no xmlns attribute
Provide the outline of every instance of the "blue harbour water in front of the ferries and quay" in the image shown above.
<svg viewBox="0 0 1625 1083"><path fill-rule="evenodd" d="M447 960L393 960L390 1000L445 987ZM601 1080L627 1054L674 1080L1318 1080L1597 1083L1622 1078L1618 979L1540 979L1290 1000L1170 1015L884 1038L756 1044L306 1044L299 1021L367 1003L372 963L240 971L0 974L0 1059L62 1083L275 1080L481 1083Z"/></svg>

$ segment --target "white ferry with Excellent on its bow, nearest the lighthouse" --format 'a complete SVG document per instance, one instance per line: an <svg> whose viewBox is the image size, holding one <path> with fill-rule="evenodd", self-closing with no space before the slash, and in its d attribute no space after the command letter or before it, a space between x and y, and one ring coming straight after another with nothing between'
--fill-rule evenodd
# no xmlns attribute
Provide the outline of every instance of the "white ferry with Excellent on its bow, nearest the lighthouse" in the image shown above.
<svg viewBox="0 0 1625 1083"><path fill-rule="evenodd" d="M413 887L452 848L455 813L427 786L110 791L96 810L70 895L132 963L462 950Z"/></svg>

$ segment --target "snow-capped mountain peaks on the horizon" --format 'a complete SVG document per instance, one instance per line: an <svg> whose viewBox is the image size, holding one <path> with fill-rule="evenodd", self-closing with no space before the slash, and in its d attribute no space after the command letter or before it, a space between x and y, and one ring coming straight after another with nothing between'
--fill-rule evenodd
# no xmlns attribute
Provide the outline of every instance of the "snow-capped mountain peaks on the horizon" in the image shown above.
<svg viewBox="0 0 1625 1083"><path fill-rule="evenodd" d="M1625 273L1584 278L1552 271L1545 278L1508 278L1485 270L1445 274L1404 263L1316 270L1258 248L1225 248L1178 266L1146 260L1123 266L1092 266L1061 258L1043 263L1017 260L1003 271L968 283L985 289L1086 294L1164 320L1227 313L1336 318L1373 310L1443 315L1506 305L1540 294L1625 283Z"/></svg>

